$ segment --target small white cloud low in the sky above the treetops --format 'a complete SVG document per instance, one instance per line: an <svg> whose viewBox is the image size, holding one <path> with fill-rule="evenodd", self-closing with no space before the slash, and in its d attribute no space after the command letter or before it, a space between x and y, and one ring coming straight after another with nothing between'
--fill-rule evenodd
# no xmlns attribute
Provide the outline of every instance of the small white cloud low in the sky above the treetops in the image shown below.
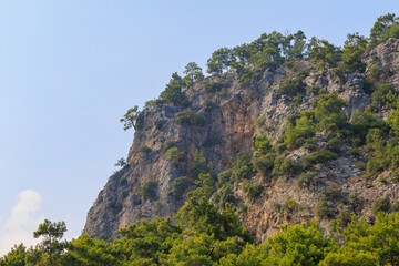
<svg viewBox="0 0 399 266"><path fill-rule="evenodd" d="M27 190L18 194L18 203L10 217L0 229L0 256L7 254L14 244L23 243L27 247L38 243L33 232L44 216L39 215L41 196L38 192Z"/></svg>

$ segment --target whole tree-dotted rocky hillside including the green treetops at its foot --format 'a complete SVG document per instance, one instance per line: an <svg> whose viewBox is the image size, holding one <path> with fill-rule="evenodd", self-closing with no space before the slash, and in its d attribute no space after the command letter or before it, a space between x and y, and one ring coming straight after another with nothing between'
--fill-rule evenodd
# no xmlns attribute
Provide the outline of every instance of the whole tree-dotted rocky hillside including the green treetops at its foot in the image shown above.
<svg viewBox="0 0 399 266"><path fill-rule="evenodd" d="M342 48L304 32L188 63L121 119L127 160L62 241L9 265L399 265L399 18Z"/></svg>

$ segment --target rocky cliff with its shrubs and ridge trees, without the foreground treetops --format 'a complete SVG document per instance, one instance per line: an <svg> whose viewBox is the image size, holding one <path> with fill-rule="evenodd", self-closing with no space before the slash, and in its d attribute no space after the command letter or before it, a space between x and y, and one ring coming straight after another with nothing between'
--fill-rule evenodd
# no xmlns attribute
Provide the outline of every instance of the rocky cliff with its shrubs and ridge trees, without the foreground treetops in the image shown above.
<svg viewBox="0 0 399 266"><path fill-rule="evenodd" d="M340 50L299 33L221 49L206 78L174 74L134 117L127 164L84 233L116 238L141 218L173 218L193 193L233 203L258 242L283 224L317 217L328 233L331 218L398 208L399 39L354 34Z"/></svg>

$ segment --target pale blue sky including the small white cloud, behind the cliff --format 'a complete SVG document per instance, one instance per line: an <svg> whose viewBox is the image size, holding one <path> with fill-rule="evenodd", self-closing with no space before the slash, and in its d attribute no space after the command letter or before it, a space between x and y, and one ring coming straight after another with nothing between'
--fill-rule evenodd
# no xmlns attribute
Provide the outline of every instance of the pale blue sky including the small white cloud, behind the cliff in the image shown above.
<svg viewBox="0 0 399 266"><path fill-rule="evenodd" d="M342 45L397 0L1 0L0 255L34 243L44 218L78 237L126 157L127 109L157 98L188 62L264 32Z"/></svg>

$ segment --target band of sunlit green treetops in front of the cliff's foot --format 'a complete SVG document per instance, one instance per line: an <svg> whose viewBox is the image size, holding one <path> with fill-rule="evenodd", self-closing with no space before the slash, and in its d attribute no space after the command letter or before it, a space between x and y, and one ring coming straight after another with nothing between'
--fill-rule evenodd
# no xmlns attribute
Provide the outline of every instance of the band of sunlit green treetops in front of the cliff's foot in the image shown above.
<svg viewBox="0 0 399 266"><path fill-rule="evenodd" d="M323 200L326 204L326 201ZM298 209L294 200L282 205L285 214ZM327 205L328 208L328 205ZM14 246L0 258L1 266L24 265L398 265L399 214L379 213L375 223L357 219L341 211L331 221L332 237L325 236L316 222L283 225L280 231L256 245L227 204L218 212L205 197L192 197L171 218L141 219L119 233L113 243L83 234L63 242L63 223L45 223L35 234L44 236L35 247ZM330 211L325 211L325 213ZM320 214L319 214L320 215ZM326 214L325 214L326 215ZM327 215L328 216L328 215ZM326 216L326 217L327 217ZM48 242L48 237L52 237ZM342 239L338 244L335 239ZM57 253L49 255L48 244Z"/></svg>

